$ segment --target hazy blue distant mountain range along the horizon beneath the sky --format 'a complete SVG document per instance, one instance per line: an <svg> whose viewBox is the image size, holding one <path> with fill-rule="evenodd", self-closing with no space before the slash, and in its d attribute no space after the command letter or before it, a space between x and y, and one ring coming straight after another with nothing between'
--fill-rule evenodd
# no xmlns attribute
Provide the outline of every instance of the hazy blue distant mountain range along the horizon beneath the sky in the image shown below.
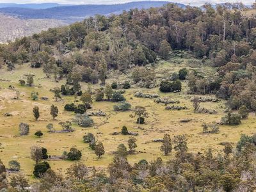
<svg viewBox="0 0 256 192"><path fill-rule="evenodd" d="M61 5L45 9L35 9L26 7L5 7L0 8L0 13L19 17L20 19L58 19L68 23L82 20L85 17L95 14L108 15L110 13L122 13L124 10L132 8L159 7L171 2L168 1L138 1L124 4L84 4L84 5ZM184 8L184 4L177 4ZM34 4L35 6L35 4ZM48 6L50 6L48 4ZM53 6L53 5L52 5ZM1 7L1 6L0 6Z"/></svg>

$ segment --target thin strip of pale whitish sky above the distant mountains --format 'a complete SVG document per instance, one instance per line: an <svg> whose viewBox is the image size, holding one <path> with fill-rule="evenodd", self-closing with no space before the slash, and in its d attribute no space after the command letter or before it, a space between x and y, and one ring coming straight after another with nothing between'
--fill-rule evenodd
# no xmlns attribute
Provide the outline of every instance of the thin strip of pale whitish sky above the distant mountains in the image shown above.
<svg viewBox="0 0 256 192"><path fill-rule="evenodd" d="M145 1L145 0L2 0L1 3L19 3L19 4L24 4L24 3L59 3L59 4L118 4L118 3L129 3L129 2L136 2L136 1ZM154 0L154 1L164 1L164 0ZM170 0L167 0L170 1ZM170 1L173 3L182 3L182 4L191 4L191 5L202 5L204 3L211 3L211 4L216 4L216 3L237 3L241 2L243 4L253 4L255 1L253 0L246 0L246 1L232 1L232 0L227 0L227 1L221 1L221 0L212 0L212 1L205 1L205 0L192 0L192 1L187 1L187 0L174 0Z"/></svg>

